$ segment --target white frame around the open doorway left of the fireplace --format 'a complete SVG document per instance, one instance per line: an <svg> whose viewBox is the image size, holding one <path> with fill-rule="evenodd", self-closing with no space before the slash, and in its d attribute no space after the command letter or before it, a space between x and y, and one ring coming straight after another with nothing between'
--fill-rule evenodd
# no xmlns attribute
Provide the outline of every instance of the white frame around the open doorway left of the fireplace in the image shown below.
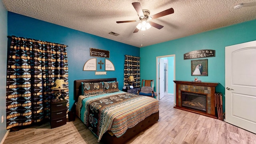
<svg viewBox="0 0 256 144"><path fill-rule="evenodd" d="M156 92L157 94L159 94L159 84L158 84L158 78L159 78L159 67L158 67L158 59L159 58L165 58L165 57L173 57L173 61L174 61L174 66L173 66L173 79L175 80L175 54L171 54L171 55L165 55L165 56L156 56ZM175 100L175 96L176 96L176 84L174 83L174 105L176 105L176 100ZM157 95L157 100L159 100L159 96Z"/></svg>

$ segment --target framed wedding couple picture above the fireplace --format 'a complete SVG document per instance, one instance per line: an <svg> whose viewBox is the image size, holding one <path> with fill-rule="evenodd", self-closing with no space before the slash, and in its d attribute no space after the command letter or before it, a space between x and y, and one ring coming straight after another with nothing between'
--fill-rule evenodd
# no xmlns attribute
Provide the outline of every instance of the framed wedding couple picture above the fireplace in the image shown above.
<svg viewBox="0 0 256 144"><path fill-rule="evenodd" d="M208 59L191 60L191 76L208 76Z"/></svg>

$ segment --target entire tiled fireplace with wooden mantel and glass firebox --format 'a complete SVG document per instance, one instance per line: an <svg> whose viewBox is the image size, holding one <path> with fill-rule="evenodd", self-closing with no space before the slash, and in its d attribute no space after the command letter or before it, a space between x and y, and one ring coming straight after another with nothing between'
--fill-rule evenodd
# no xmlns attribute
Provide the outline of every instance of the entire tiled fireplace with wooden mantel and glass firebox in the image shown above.
<svg viewBox="0 0 256 144"><path fill-rule="evenodd" d="M176 83L176 106L174 108L217 118L214 94L218 83L178 80L174 82Z"/></svg>

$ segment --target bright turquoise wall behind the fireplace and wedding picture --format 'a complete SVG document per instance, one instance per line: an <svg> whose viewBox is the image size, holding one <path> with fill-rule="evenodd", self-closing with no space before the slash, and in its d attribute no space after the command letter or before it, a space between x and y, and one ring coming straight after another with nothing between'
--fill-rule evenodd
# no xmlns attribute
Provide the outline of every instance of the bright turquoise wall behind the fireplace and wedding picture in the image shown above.
<svg viewBox="0 0 256 144"><path fill-rule="evenodd" d="M155 80L156 69L149 67L156 65L156 57L175 54L176 80L194 80L194 76L191 76L191 60L184 60L183 54L193 50L212 49L216 50L216 56L208 58L208 76L198 76L198 79L203 82L219 82L216 92L224 94L225 46L252 40L256 40L256 20L140 48L141 79Z"/></svg>

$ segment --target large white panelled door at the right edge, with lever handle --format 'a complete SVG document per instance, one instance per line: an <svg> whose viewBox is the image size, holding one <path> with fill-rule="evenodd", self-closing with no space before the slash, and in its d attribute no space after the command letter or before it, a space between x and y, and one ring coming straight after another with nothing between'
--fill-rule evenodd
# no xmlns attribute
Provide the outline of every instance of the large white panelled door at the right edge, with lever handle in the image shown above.
<svg viewBox="0 0 256 144"><path fill-rule="evenodd" d="M225 48L226 122L256 133L256 41Z"/></svg>

